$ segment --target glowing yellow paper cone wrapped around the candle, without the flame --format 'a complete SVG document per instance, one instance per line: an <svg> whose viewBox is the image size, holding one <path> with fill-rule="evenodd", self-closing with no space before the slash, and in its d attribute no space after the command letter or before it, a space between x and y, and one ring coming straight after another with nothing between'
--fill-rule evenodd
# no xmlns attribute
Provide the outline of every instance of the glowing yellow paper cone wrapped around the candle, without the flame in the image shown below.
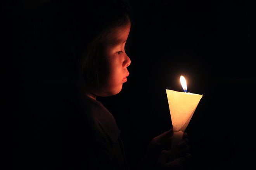
<svg viewBox="0 0 256 170"><path fill-rule="evenodd" d="M202 95L166 89L173 131L184 132Z"/></svg>

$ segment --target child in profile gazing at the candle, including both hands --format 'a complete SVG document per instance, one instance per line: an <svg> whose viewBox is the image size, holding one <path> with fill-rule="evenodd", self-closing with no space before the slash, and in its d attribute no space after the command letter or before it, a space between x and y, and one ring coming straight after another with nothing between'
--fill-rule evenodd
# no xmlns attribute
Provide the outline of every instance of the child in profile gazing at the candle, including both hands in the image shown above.
<svg viewBox="0 0 256 170"><path fill-rule="evenodd" d="M58 155L48 156L56 159L51 168L128 170L120 130L97 96L118 94L130 76L131 60L125 51L130 12L121 0L91 3L75 1L69 7L69 31L73 32L70 61L77 68L73 70L77 88L71 99L74 107L67 107L63 115L66 118L61 123L64 128L57 149L51 146ZM180 143L177 158L168 160L172 135L170 129L154 138L137 169L165 170L185 165L190 157L187 136Z"/></svg>

